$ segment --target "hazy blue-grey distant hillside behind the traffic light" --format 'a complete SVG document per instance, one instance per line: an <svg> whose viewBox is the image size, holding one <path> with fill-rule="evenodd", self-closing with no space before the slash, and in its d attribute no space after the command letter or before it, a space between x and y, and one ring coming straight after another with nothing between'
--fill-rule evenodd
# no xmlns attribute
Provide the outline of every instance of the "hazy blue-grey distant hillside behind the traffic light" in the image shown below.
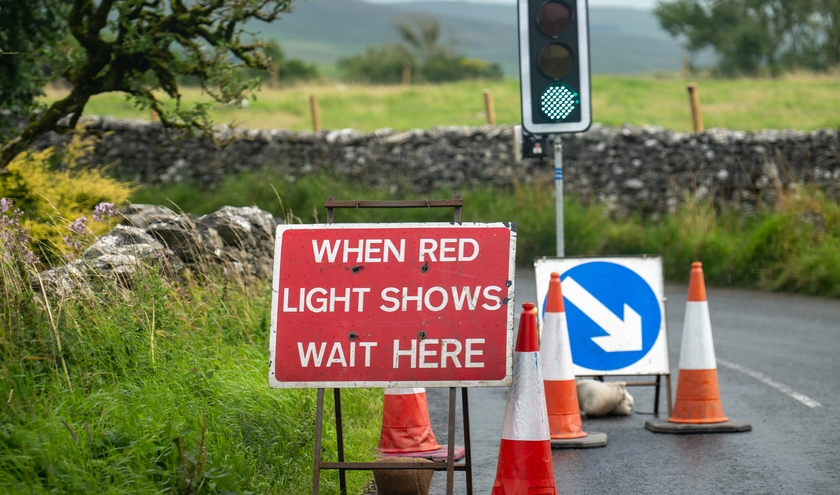
<svg viewBox="0 0 840 495"><path fill-rule="evenodd" d="M454 40L462 53L499 62L508 74L517 73L516 10L512 5L307 0L296 2L295 12L280 21L249 27L266 38L276 38L290 56L333 63L367 45L397 41L394 20L418 12L439 17L444 38ZM596 73L674 70L682 63L679 43L648 11L591 8L590 43Z"/></svg>

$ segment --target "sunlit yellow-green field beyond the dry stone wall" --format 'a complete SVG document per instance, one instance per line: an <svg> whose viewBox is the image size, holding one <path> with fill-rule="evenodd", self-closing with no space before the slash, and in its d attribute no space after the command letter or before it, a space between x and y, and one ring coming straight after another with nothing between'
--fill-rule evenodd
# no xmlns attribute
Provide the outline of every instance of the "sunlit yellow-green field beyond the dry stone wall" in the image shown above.
<svg viewBox="0 0 840 495"><path fill-rule="evenodd" d="M840 126L840 74L790 75L777 79L699 80L706 128L733 130L813 130ZM594 76L595 122L618 126L657 125L691 131L685 81L671 76ZM482 91L493 93L499 124L520 121L519 81L465 81L417 86L345 86L337 83L263 89L248 108L219 106L218 122L248 128L311 129L309 95L318 98L324 129L373 131L427 129L435 126L485 123ZM50 91L47 100L59 97ZM199 90L183 92L185 102L202 99ZM93 98L86 115L149 119L120 94Z"/></svg>

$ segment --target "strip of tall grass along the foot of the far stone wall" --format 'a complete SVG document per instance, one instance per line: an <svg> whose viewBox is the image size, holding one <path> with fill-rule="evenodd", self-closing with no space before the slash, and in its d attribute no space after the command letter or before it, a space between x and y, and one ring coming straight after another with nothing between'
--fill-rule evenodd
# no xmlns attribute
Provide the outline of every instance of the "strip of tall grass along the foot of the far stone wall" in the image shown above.
<svg viewBox="0 0 840 495"><path fill-rule="evenodd" d="M553 184L489 187L460 191L464 221L513 221L518 224L517 263L528 266L555 247ZM256 204L281 215L275 189L286 210L304 223L325 221L327 196L338 199L407 199L380 189L355 186L329 177L297 182L270 172L231 177L212 195L191 186L145 187L133 201L172 202L186 211ZM451 197L441 190L429 198ZM716 211L687 198L673 215L659 221L638 217L612 220L598 205L575 198L565 203L565 251L573 255L661 254L665 277L687 280L693 261L702 261L710 285L840 297L840 206L821 192L799 188L784 193L774 207L754 213ZM449 222L449 210L338 210L337 222Z"/></svg>

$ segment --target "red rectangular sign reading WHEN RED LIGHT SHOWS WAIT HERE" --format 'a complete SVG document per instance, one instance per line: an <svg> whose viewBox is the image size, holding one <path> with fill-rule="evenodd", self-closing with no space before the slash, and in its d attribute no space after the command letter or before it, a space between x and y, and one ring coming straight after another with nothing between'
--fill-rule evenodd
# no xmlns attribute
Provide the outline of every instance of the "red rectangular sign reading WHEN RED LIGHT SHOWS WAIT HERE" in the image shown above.
<svg viewBox="0 0 840 495"><path fill-rule="evenodd" d="M516 226L277 228L271 387L510 385Z"/></svg>

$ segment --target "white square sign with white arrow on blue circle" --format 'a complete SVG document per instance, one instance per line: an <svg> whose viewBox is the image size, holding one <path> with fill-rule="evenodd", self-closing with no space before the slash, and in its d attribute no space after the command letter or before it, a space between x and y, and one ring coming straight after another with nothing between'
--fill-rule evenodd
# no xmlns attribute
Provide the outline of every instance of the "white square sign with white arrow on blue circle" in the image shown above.
<svg viewBox="0 0 840 495"><path fill-rule="evenodd" d="M543 308L560 273L575 375L670 374L661 257L540 258L534 267Z"/></svg>

